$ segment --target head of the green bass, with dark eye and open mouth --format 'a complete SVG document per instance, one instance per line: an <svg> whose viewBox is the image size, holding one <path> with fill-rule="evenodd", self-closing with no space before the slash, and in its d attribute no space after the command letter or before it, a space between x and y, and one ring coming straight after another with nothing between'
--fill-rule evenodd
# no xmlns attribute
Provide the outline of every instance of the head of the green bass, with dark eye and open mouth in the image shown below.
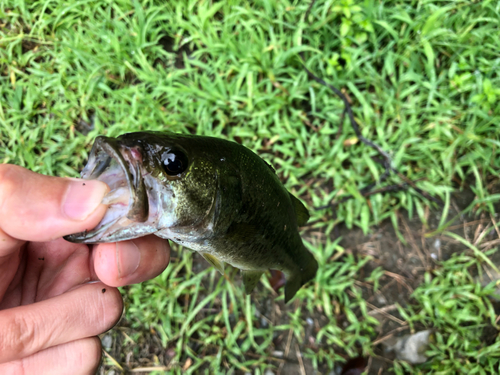
<svg viewBox="0 0 500 375"><path fill-rule="evenodd" d="M138 132L96 138L81 177L105 182L108 209L97 227L66 236L102 243L169 228L201 230L213 214L217 168L189 136Z"/></svg>

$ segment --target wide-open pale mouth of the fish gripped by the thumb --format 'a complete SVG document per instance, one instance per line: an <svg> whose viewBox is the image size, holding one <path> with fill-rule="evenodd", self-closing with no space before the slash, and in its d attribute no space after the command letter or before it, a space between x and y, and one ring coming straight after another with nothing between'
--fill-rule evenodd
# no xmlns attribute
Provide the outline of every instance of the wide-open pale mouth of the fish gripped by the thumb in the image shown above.
<svg viewBox="0 0 500 375"><path fill-rule="evenodd" d="M102 200L108 205L108 210L94 229L70 234L64 239L77 243L101 243L139 237L127 228L146 222L149 216L141 163L142 155L137 148L124 146L115 138L97 137L81 177L99 180L109 186L110 191Z"/></svg>

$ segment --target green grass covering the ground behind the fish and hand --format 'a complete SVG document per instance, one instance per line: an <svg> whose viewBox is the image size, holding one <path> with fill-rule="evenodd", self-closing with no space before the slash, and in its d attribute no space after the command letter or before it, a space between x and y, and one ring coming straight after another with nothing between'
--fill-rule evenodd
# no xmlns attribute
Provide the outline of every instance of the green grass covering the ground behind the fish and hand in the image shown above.
<svg viewBox="0 0 500 375"><path fill-rule="evenodd" d="M273 302L264 278L245 297L236 272L220 279L188 251L155 280L124 288L127 323L115 334L128 338L109 367L140 367L138 358L148 358L174 373L264 373L282 366L276 350L292 357L291 337L318 371L375 355L381 322L369 314L367 296L384 282L384 264L377 268L373 257L331 239L334 226L369 234L388 219L399 233L402 216L417 216L428 237L446 235L456 214L452 193L465 189L475 199L469 214L495 214L498 2L318 0L305 19L308 6L0 4L1 162L77 176L101 134L168 129L239 140L276 168L315 223L304 238L321 268L290 306L282 297ZM347 121L339 124L342 103L307 78L300 52L310 70L349 96L363 135L419 188L442 199L443 208L411 188L359 194L383 173L378 155L357 142ZM384 186L401 182L392 176ZM348 194L354 198L335 216L313 209ZM429 208L442 211L437 223ZM486 259L493 255L465 232L454 236L460 251L421 270L422 283L397 312L413 330L436 329L429 362L396 360L390 365L396 373L499 371L500 341L481 340L484 327L498 326L494 284L476 279L478 270L491 269ZM154 355L141 349L147 345Z"/></svg>

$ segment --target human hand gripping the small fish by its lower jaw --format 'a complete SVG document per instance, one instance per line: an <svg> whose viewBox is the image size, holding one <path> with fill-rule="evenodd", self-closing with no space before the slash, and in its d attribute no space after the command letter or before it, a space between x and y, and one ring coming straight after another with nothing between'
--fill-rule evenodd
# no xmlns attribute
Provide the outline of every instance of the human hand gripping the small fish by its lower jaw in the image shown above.
<svg viewBox="0 0 500 375"><path fill-rule="evenodd" d="M91 247L60 238L95 227L108 190L0 164L0 374L93 373L95 336L122 313L115 287L168 265L168 242L154 235Z"/></svg>

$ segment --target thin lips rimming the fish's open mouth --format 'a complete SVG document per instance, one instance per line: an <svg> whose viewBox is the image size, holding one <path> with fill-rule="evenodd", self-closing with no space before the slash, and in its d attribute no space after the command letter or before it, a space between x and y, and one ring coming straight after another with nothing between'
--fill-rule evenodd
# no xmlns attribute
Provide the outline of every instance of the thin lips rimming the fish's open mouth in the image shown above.
<svg viewBox="0 0 500 375"><path fill-rule="evenodd" d="M103 152L106 154L107 158L99 162L98 159L99 157L102 157ZM86 168L84 168L82 171L82 178L86 180L97 179L107 168L112 159L114 159L123 170L127 187L130 192L126 218L135 222L147 221L149 216L149 197L142 178L140 164L131 154L129 147L120 144L120 142L118 142L115 138L105 136L97 137L94 142L94 146L92 147L88 162L88 164L94 162L95 165L90 173L88 173ZM92 241L92 239L98 237L103 232L106 232L122 218L123 217L117 217L97 230L92 229L64 236L64 239L75 243L105 242L100 240Z"/></svg>

